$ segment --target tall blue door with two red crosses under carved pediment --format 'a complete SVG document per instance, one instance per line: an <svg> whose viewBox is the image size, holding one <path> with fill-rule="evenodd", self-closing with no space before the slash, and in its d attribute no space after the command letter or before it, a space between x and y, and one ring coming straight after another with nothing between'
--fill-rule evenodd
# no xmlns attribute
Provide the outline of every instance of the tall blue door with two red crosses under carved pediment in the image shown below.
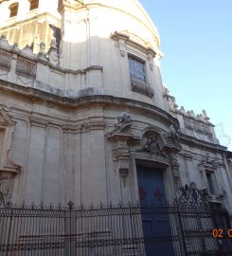
<svg viewBox="0 0 232 256"><path fill-rule="evenodd" d="M137 180L146 255L175 255L162 171L137 166Z"/></svg>

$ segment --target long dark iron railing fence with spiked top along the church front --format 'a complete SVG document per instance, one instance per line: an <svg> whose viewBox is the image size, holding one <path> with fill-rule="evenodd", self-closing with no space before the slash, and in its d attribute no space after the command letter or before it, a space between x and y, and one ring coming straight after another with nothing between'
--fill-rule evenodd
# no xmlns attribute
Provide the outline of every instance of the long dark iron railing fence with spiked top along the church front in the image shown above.
<svg viewBox="0 0 232 256"><path fill-rule="evenodd" d="M222 241L212 235L220 228L214 214L139 204L2 206L0 255L232 255L229 237ZM223 213L220 217L227 220Z"/></svg>

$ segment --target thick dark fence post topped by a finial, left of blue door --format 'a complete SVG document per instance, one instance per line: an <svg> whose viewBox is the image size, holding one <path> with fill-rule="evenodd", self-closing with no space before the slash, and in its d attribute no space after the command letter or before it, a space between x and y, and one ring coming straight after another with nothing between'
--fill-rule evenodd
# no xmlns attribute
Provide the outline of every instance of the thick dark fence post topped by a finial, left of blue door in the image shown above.
<svg viewBox="0 0 232 256"><path fill-rule="evenodd" d="M64 219L64 256L77 256L77 219L74 204L68 203L68 210L65 210Z"/></svg>

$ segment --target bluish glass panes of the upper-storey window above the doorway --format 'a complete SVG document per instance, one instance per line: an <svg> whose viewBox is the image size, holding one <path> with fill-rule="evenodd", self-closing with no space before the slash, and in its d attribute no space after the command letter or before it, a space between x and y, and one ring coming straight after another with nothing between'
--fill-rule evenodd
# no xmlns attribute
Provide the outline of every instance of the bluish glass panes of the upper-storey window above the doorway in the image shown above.
<svg viewBox="0 0 232 256"><path fill-rule="evenodd" d="M131 78L136 78L146 82L145 63L129 56L129 69Z"/></svg>

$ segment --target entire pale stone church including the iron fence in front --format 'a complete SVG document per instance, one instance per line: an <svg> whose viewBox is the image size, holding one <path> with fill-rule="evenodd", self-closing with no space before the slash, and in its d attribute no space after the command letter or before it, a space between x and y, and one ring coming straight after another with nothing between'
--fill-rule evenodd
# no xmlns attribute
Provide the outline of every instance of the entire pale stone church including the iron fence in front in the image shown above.
<svg viewBox="0 0 232 256"><path fill-rule="evenodd" d="M231 255L232 153L159 46L138 0L0 0L1 256Z"/></svg>

